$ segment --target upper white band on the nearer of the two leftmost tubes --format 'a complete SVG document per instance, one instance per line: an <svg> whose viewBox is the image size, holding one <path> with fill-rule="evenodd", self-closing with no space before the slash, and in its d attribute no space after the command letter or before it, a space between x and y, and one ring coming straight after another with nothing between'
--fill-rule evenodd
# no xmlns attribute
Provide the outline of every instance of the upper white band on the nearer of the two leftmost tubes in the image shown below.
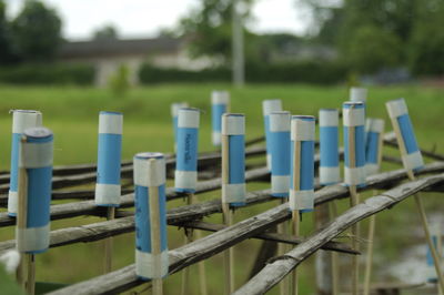
<svg viewBox="0 0 444 295"><path fill-rule="evenodd" d="M33 169L52 166L52 149L53 142L26 142L22 143L23 156L19 157L19 166Z"/></svg>

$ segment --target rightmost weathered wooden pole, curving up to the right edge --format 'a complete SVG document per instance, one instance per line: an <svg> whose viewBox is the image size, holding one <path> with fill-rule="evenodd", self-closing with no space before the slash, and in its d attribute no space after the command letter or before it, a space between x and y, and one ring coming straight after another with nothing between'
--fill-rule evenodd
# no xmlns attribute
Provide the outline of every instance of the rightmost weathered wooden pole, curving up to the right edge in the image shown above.
<svg viewBox="0 0 444 295"><path fill-rule="evenodd" d="M444 183L444 174L404 183L380 195L365 200L363 203L334 218L321 231L310 235L303 243L287 252L284 256L278 257L268 264L258 275L239 288L234 294L250 295L265 293L304 260L316 252L323 244L336 237L353 224L377 212L390 208L406 197L438 183Z"/></svg>

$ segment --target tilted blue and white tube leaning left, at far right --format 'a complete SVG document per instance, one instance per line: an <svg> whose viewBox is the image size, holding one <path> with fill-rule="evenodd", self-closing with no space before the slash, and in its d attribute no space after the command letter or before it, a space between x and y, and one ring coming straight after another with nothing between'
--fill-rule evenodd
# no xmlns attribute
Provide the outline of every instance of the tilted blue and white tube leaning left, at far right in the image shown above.
<svg viewBox="0 0 444 295"><path fill-rule="evenodd" d="M389 101L385 105L392 120L393 129L395 131L398 130L396 136L401 136L401 139L397 139L397 143L401 149L404 169L410 171L421 170L424 166L424 161L416 143L404 99Z"/></svg>

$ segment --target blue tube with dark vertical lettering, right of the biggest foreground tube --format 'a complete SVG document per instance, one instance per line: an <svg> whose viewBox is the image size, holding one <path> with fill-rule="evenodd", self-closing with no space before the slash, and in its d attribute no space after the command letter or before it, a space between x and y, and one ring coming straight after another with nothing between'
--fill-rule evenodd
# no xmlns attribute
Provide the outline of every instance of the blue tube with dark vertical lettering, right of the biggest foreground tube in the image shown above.
<svg viewBox="0 0 444 295"><path fill-rule="evenodd" d="M176 192L195 192L195 185L198 183L199 121L199 109L180 109L176 166L174 172L174 186Z"/></svg>

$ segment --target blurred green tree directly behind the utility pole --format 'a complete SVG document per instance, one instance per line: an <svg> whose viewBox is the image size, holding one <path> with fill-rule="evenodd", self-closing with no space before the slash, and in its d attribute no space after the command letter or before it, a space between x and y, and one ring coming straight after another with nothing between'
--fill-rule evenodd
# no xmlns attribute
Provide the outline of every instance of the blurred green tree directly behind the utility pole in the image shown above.
<svg viewBox="0 0 444 295"><path fill-rule="evenodd" d="M201 6L181 20L181 30L191 39L192 57L220 58L224 64L231 60L231 32L233 0L201 0ZM254 0L238 0L243 23L250 20L250 8ZM254 55L254 34L244 28L245 58ZM249 54L251 53L251 54Z"/></svg>

